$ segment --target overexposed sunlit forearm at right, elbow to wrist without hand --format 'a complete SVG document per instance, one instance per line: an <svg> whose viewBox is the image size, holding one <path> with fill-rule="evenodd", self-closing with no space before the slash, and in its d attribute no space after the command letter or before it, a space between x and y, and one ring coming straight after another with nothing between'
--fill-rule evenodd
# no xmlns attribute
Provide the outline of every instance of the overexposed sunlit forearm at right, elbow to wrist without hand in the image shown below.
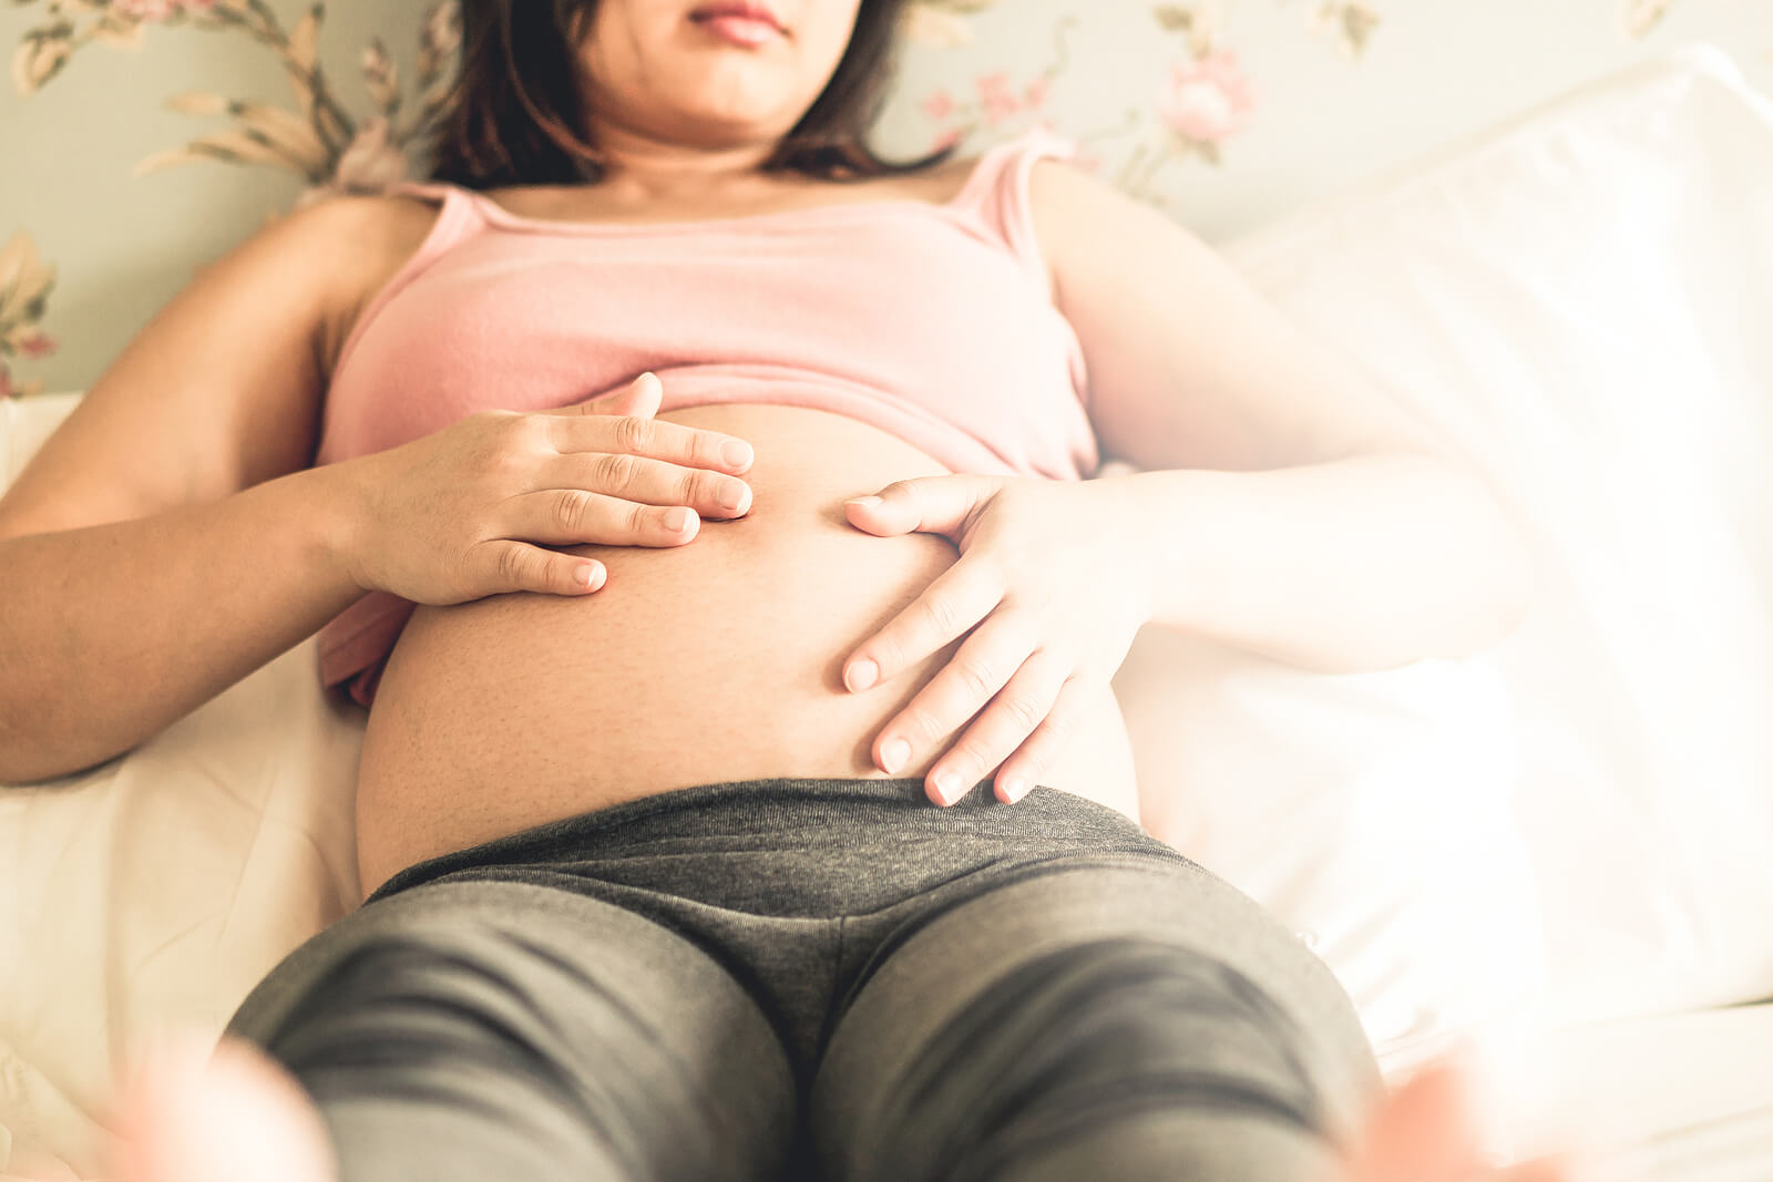
<svg viewBox="0 0 1773 1182"><path fill-rule="evenodd" d="M1433 455L1122 477L1151 622L1319 673L1459 657L1512 633L1528 560L1488 489Z"/></svg>

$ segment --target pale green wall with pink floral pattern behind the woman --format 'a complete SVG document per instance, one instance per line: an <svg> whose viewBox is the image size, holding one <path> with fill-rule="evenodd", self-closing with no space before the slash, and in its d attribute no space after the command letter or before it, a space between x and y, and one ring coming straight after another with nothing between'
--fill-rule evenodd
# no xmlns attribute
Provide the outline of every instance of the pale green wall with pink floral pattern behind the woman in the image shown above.
<svg viewBox="0 0 1773 1182"><path fill-rule="evenodd" d="M113 12L183 2L110 0ZM234 11L248 4L213 2ZM309 11L296 0L261 2L285 28ZM90 44L41 90L23 94L14 46L27 30L59 12L87 25L103 7L14 0L0 9L0 46L14 58L14 82L0 94L0 337L11 333L14 353L0 349L0 386L90 385L195 268L289 209L305 188L289 172L207 161L131 175L142 158L227 126L165 110L174 92L293 106L278 57L239 30L144 27L140 50ZM353 0L326 11L319 60L353 117L369 113L363 48L379 32L410 78L426 7ZM1314 28L1324 7L1376 18L1358 55ZM957 14L966 9L979 11ZM1220 145L1216 165L1188 151L1158 115L1172 66L1193 58L1188 37L1161 27L1160 9L1193 19L1209 37L1195 46L1202 53L1230 50L1255 89L1248 126ZM1660 9L1654 27L1628 34L1633 14L1649 23ZM883 144L924 147L941 129L924 108L938 90L977 96L980 76L1004 73L1019 94L1051 71L1039 110L982 128L970 145L1044 119L1085 138L1103 175L1215 241L1672 44L1711 41L1773 90L1773 5L1759 0L986 0L982 9L979 0L929 0L920 18L922 41L906 53ZM1126 174L1140 154L1163 158L1149 184ZM55 271L41 323L16 307L25 246ZM53 353L20 356L18 346L39 331L55 342Z"/></svg>

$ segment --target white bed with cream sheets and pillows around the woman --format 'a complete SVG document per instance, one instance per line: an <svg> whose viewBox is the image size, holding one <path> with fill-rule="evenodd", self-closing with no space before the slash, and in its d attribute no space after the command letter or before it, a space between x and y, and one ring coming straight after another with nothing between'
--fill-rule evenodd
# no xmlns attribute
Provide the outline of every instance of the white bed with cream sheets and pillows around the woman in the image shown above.
<svg viewBox="0 0 1773 1182"><path fill-rule="evenodd" d="M1388 1077L1477 1042L1498 1159L1773 1180L1773 106L1691 46L1223 246L1493 480L1544 579L1498 650L1388 673L1142 636L1144 790ZM0 400L0 480L74 399ZM101 1177L113 1072L356 904L362 727L312 663L0 792L0 1177Z"/></svg>

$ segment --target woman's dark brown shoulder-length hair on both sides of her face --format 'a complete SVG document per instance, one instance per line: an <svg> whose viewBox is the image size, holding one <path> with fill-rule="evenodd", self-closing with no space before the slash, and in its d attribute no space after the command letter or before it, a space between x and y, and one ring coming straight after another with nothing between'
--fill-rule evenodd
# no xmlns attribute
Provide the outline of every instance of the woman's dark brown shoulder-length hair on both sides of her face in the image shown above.
<svg viewBox="0 0 1773 1182"><path fill-rule="evenodd" d="M849 48L824 92L764 161L766 172L853 181L941 163L952 147L892 163L867 144L894 66L906 0L862 0ZM596 184L571 30L598 0L461 0L461 73L433 142L433 181L475 190Z"/></svg>

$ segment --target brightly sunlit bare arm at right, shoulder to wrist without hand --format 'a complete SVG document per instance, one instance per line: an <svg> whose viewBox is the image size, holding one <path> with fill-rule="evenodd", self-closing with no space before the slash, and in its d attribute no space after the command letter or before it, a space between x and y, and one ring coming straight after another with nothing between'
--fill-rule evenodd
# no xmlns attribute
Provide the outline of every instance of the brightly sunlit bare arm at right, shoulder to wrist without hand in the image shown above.
<svg viewBox="0 0 1773 1182"><path fill-rule="evenodd" d="M1532 562L1477 473L1158 211L1053 161L1030 198L1103 452L1147 470L1154 620L1319 672L1519 624Z"/></svg>

